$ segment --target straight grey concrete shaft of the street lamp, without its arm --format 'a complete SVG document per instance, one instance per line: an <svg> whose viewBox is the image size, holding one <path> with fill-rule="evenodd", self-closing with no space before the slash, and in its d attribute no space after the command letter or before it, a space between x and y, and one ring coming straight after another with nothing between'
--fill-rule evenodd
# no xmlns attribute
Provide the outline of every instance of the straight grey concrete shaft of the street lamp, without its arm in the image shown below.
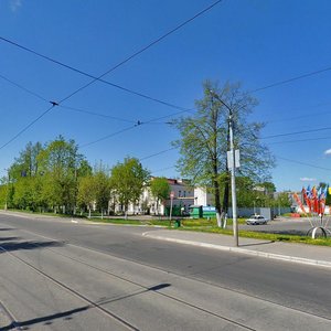
<svg viewBox="0 0 331 331"><path fill-rule="evenodd" d="M232 220L233 220L233 235L235 239L235 246L238 246L238 222L237 222L237 195L236 195L236 163L235 163L235 150L233 142L233 118L232 111L228 117L229 121L229 146L231 146L231 158L232 158L232 169L231 169L231 193L232 193Z"/></svg>

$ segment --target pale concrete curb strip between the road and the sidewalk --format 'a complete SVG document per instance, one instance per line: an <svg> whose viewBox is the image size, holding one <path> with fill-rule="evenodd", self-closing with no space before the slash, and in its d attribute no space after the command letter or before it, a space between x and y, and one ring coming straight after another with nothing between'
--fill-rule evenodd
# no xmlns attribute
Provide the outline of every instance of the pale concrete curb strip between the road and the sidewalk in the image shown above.
<svg viewBox="0 0 331 331"><path fill-rule="evenodd" d="M325 261L325 260L309 259L309 258L303 258L303 257L295 257L295 256L289 256L289 255L275 254L275 253L265 253L265 252L250 250L250 249L238 248L238 247L221 246L221 245L215 245L215 244L192 242L192 241L185 241L185 239L175 239L175 238L149 235L149 233L143 233L142 236L149 237L152 239L172 242L172 243L191 245L191 246L199 246L199 247L204 247L204 248L212 248L212 249L224 250L224 252L241 253L241 254L246 254L246 255L250 255L250 256L271 258L271 259L277 259L277 260L282 260L282 261L291 261L291 263L301 264L301 265L310 265L310 266L331 268L331 261Z"/></svg>

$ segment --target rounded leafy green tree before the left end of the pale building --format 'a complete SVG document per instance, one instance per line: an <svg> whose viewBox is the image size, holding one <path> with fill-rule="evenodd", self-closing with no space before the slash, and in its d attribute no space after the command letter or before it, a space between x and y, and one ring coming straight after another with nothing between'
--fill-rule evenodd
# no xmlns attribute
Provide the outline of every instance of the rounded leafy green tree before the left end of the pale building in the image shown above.
<svg viewBox="0 0 331 331"><path fill-rule="evenodd" d="M149 172L136 158L126 158L111 169L110 185L122 211L127 214L130 203L136 204L147 184Z"/></svg>

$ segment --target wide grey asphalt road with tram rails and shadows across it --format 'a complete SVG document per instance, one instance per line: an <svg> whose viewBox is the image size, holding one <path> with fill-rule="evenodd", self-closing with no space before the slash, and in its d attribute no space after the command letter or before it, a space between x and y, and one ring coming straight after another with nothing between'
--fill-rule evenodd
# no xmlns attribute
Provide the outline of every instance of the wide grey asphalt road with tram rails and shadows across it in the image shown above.
<svg viewBox="0 0 331 331"><path fill-rule="evenodd" d="M331 330L330 269L145 231L0 214L0 329Z"/></svg>

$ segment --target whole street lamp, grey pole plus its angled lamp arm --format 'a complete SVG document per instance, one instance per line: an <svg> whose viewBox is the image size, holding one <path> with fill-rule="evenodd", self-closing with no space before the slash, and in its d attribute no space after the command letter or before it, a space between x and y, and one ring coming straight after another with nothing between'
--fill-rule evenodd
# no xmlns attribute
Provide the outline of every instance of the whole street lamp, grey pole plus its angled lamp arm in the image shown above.
<svg viewBox="0 0 331 331"><path fill-rule="evenodd" d="M238 246L238 222L237 222L237 196L236 196L236 164L235 164L235 150L233 139L233 111L228 105L226 105L216 93L210 90L213 97L215 97L225 108L228 110L228 130L229 130L229 154L231 154L231 193L232 193L232 218L233 218L233 235L235 239L235 246Z"/></svg>

